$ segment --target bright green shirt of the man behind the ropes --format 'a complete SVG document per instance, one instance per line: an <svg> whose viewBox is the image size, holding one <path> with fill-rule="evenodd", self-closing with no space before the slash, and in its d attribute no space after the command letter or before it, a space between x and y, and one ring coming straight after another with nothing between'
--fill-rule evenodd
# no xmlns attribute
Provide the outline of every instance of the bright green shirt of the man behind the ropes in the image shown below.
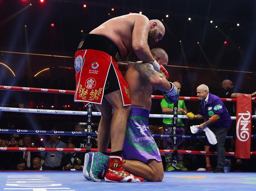
<svg viewBox="0 0 256 191"><path fill-rule="evenodd" d="M161 101L161 107L168 107L170 109L173 109L174 104L168 104L164 99ZM187 109L185 106L184 100L178 100L178 108L182 109ZM167 115L170 115L170 113L165 113ZM178 115L183 115L182 112L178 112ZM172 118L163 118L163 123L164 124L173 124L173 119ZM177 125L176 126L184 126L184 123L182 122L181 118L178 118L177 120Z"/></svg>

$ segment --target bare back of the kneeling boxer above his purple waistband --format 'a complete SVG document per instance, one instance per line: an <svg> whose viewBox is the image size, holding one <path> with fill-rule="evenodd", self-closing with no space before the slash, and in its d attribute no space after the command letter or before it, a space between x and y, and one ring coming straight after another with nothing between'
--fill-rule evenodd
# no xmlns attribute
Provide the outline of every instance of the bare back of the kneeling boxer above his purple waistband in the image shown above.
<svg viewBox="0 0 256 191"><path fill-rule="evenodd" d="M142 64L142 62L139 64ZM134 69L134 65L128 68L125 80L129 86L132 106L144 107L150 110L152 104L152 85Z"/></svg>

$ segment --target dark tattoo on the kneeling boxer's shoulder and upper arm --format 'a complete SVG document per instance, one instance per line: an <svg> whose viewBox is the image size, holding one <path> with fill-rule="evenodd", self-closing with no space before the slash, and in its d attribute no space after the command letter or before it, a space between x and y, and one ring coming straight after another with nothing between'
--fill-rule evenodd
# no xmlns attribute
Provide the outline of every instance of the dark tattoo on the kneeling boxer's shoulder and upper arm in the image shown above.
<svg viewBox="0 0 256 191"><path fill-rule="evenodd" d="M158 72L154 70L152 64L149 63L135 63L134 69L137 70L143 78L150 80L150 78L159 77Z"/></svg>

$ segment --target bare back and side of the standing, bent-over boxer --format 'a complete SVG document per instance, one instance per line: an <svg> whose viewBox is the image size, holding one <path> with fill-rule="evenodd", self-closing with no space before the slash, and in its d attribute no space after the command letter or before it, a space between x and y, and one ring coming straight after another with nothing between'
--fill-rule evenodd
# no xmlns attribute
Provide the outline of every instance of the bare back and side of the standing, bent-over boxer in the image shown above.
<svg viewBox="0 0 256 191"><path fill-rule="evenodd" d="M145 19L145 16L139 14L112 18L96 29L93 29L90 33L108 37L117 46L122 57L132 51L132 33L135 20L141 19L142 17Z"/></svg>

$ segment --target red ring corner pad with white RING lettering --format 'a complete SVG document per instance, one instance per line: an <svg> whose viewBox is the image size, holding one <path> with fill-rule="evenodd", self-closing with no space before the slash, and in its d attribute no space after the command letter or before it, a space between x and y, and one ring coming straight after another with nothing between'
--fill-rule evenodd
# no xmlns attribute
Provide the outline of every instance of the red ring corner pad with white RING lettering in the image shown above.
<svg viewBox="0 0 256 191"><path fill-rule="evenodd" d="M252 96L237 95L236 158L250 158L252 129Z"/></svg>

